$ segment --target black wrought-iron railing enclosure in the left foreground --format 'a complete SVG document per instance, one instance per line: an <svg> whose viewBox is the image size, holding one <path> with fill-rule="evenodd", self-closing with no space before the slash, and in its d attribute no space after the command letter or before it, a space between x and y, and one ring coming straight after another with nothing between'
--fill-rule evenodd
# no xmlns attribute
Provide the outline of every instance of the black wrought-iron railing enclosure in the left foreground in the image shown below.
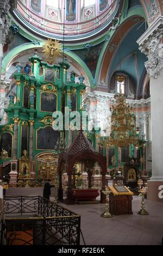
<svg viewBox="0 0 163 256"><path fill-rule="evenodd" d="M79 245L80 216L40 196L4 197L2 245Z"/></svg>

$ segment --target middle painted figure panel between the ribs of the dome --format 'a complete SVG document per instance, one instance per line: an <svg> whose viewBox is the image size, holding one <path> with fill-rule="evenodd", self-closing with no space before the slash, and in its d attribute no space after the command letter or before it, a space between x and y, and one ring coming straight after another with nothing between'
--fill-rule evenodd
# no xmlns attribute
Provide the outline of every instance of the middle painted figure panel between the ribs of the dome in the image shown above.
<svg viewBox="0 0 163 256"><path fill-rule="evenodd" d="M76 0L66 0L66 21L76 20Z"/></svg>

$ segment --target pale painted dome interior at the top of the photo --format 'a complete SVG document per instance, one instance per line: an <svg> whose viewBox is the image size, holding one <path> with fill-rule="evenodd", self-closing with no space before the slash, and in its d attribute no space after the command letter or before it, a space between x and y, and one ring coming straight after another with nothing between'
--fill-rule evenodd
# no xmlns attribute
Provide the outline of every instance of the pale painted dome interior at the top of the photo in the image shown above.
<svg viewBox="0 0 163 256"><path fill-rule="evenodd" d="M117 11L117 0L17 0L12 16L41 38L78 41L104 32Z"/></svg>

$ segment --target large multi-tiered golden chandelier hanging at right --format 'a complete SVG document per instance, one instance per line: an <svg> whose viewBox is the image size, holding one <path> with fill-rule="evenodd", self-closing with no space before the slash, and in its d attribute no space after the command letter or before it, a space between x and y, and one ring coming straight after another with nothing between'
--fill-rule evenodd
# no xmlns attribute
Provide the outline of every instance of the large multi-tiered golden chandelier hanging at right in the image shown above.
<svg viewBox="0 0 163 256"><path fill-rule="evenodd" d="M139 138L137 132L139 127L135 127L135 115L132 108L127 104L124 95L116 94L115 106L112 106L111 132L110 137L99 141L99 147L108 148L111 146L126 148L130 144L137 145Z"/></svg>

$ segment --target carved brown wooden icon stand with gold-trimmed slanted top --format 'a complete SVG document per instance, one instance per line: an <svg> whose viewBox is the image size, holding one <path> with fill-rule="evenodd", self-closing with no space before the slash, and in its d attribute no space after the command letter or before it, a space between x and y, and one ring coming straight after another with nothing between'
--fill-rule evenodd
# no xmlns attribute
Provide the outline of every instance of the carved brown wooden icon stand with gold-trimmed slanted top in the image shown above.
<svg viewBox="0 0 163 256"><path fill-rule="evenodd" d="M134 193L123 185L109 186L109 211L112 215L133 214L132 200Z"/></svg>

